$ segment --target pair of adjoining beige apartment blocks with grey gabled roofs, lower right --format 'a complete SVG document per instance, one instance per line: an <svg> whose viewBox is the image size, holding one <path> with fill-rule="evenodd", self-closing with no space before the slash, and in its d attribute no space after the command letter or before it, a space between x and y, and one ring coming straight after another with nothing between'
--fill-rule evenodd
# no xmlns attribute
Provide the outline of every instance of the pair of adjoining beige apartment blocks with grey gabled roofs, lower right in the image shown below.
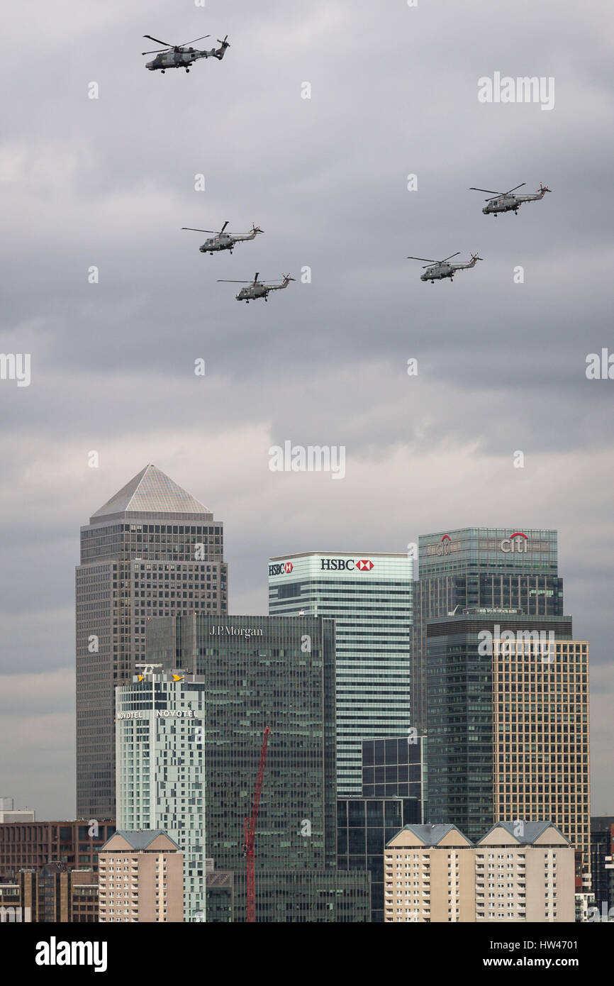
<svg viewBox="0 0 614 986"><path fill-rule="evenodd" d="M406 825L384 850L384 922L573 922L574 847L549 821Z"/></svg>

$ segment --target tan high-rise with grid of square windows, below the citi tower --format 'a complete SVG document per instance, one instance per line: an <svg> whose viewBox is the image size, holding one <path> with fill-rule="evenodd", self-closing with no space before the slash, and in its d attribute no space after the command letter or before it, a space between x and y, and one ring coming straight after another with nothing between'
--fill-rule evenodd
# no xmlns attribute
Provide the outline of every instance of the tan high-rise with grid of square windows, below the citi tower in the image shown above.
<svg viewBox="0 0 614 986"><path fill-rule="evenodd" d="M548 818L576 849L586 876L588 729L585 640L493 642L493 817Z"/></svg>

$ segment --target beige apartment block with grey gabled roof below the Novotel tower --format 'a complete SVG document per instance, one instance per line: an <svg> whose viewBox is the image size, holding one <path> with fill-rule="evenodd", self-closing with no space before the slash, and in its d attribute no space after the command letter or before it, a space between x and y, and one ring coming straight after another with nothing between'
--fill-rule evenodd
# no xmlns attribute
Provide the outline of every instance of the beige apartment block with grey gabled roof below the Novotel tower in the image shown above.
<svg viewBox="0 0 614 986"><path fill-rule="evenodd" d="M183 854L159 830L117 831L99 854L99 921L182 922Z"/></svg>

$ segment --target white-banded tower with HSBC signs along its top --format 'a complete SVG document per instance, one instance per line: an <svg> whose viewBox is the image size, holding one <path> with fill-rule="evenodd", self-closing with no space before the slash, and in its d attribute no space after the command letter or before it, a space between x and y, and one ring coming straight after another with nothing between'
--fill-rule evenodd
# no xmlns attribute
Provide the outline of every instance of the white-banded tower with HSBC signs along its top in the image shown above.
<svg viewBox="0 0 614 986"><path fill-rule="evenodd" d="M335 621L337 795L361 797L362 741L408 735L413 562L307 551L269 560L271 616Z"/></svg>

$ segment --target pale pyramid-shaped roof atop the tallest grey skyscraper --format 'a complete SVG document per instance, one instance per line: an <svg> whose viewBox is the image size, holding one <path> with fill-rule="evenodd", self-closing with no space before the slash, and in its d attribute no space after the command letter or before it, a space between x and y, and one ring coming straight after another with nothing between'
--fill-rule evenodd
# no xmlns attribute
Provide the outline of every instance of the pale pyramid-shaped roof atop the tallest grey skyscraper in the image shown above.
<svg viewBox="0 0 614 986"><path fill-rule="evenodd" d="M90 518L90 524L120 517L138 519L140 515L174 515L179 520L213 520L208 507L186 493L156 465L144 469L107 500Z"/></svg>

